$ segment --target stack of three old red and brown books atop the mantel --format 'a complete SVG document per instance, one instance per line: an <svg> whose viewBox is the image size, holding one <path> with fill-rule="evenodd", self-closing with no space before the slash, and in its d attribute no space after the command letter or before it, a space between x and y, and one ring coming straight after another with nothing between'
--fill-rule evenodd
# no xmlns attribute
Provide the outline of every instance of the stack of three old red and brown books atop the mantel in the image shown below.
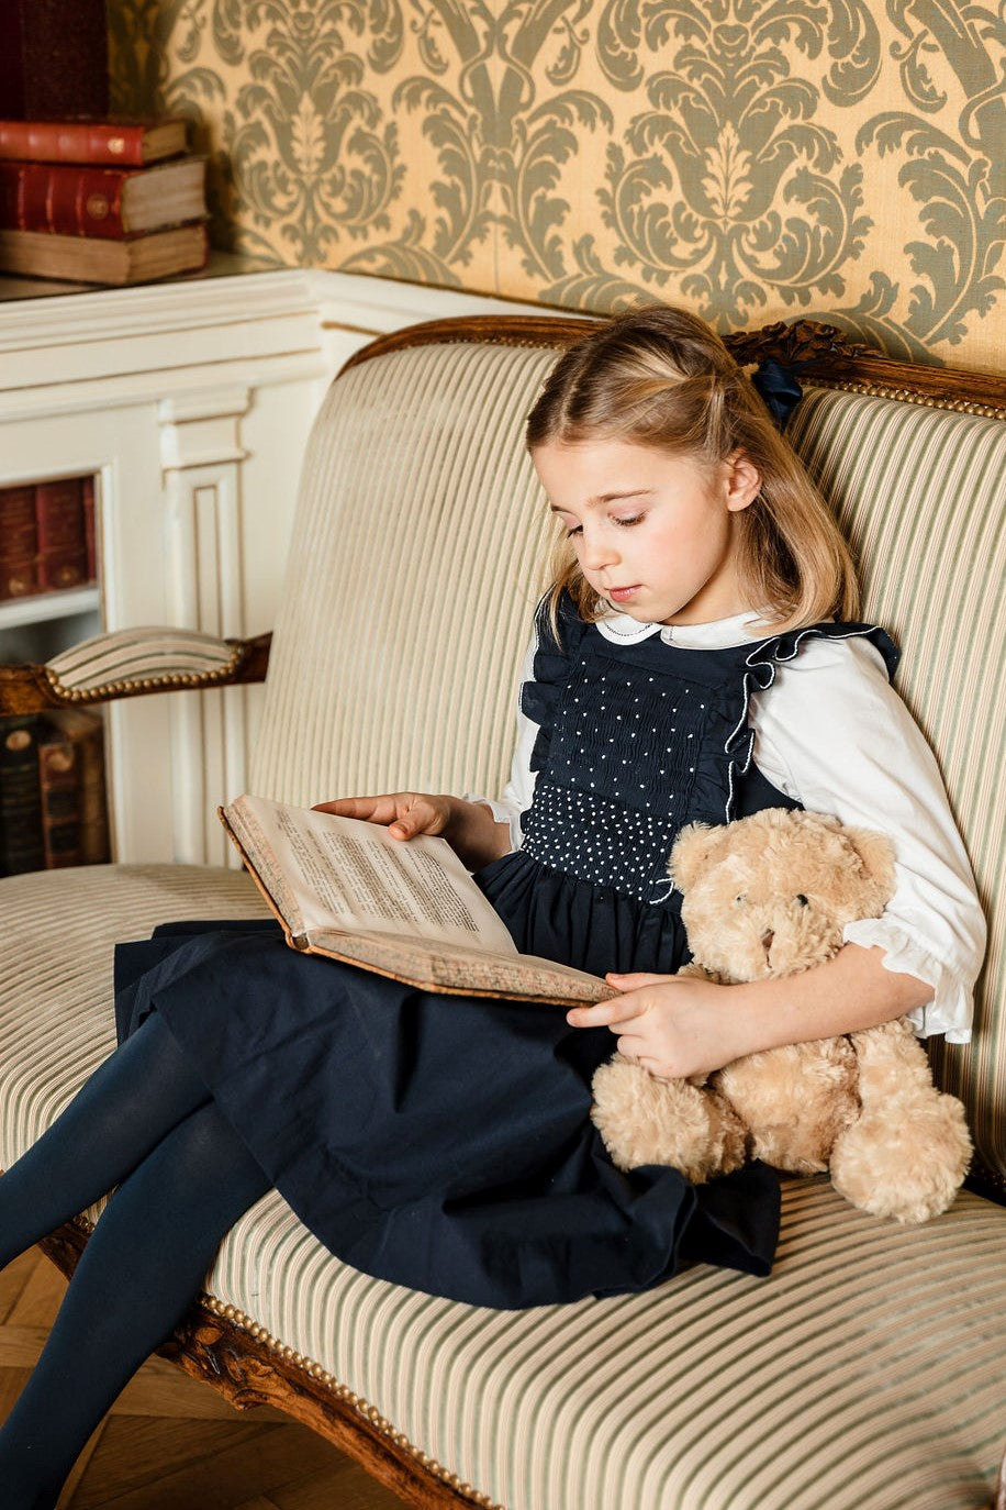
<svg viewBox="0 0 1006 1510"><path fill-rule="evenodd" d="M205 267L187 122L0 121L0 272L133 284Z"/></svg>

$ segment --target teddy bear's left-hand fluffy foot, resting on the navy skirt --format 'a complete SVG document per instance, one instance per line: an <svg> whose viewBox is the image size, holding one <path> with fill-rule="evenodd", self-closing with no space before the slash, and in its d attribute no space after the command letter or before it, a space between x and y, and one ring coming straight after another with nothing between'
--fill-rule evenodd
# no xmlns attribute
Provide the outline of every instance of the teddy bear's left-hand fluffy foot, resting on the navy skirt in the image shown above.
<svg viewBox="0 0 1006 1510"><path fill-rule="evenodd" d="M744 1129L718 1096L656 1080L615 1054L594 1071L591 1120L618 1169L670 1164L692 1184L744 1163Z"/></svg>

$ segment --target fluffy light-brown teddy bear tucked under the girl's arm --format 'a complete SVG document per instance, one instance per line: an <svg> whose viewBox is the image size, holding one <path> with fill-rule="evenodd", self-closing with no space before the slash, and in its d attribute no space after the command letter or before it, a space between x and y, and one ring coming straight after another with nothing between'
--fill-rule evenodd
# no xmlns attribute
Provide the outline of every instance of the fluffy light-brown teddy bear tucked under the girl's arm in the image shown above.
<svg viewBox="0 0 1006 1510"><path fill-rule="evenodd" d="M789 808L691 824L670 873L692 953L683 972L721 985L831 959L845 924L879 917L894 889L882 834ZM671 1164L695 1184L747 1158L828 1170L854 1206L905 1223L944 1211L971 1157L964 1107L934 1086L905 1018L697 1080L661 1080L615 1054L594 1072L591 1117L620 1169Z"/></svg>

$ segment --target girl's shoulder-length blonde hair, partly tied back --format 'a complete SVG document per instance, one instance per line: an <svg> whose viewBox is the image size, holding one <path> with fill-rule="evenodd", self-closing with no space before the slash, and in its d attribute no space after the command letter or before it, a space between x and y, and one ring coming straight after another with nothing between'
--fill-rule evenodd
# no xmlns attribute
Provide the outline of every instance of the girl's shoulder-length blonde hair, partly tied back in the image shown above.
<svg viewBox="0 0 1006 1510"><path fill-rule="evenodd" d="M849 547L765 400L698 316L647 305L615 316L560 356L526 424L531 451L549 442L630 441L715 467L744 453L762 486L738 513L738 578L774 630L836 615L855 619L860 592ZM549 609L569 592L582 619L609 612L570 542L557 542Z"/></svg>

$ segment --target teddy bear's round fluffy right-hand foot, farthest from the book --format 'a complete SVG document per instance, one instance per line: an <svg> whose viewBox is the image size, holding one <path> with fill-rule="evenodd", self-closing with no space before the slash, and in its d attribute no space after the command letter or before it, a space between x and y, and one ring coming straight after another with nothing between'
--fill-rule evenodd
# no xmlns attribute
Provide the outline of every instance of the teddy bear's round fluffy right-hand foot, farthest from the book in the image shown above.
<svg viewBox="0 0 1006 1510"><path fill-rule="evenodd" d="M864 1111L833 1149L831 1182L854 1206L916 1225L947 1210L970 1161L964 1107L932 1092Z"/></svg>

